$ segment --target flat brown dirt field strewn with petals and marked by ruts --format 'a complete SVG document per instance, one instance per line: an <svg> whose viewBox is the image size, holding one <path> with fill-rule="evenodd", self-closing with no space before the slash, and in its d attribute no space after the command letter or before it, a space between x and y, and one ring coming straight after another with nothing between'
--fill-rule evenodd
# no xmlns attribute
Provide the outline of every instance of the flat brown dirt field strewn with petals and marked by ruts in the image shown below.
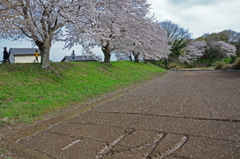
<svg viewBox="0 0 240 159"><path fill-rule="evenodd" d="M237 159L240 72L173 71L14 144L19 158Z"/></svg>

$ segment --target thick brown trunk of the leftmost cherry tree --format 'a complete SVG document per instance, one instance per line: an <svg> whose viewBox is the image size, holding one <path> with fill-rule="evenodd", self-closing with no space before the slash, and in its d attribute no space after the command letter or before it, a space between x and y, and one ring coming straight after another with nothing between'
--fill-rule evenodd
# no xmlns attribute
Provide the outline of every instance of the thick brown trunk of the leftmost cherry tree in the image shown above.
<svg viewBox="0 0 240 159"><path fill-rule="evenodd" d="M51 40L48 38L43 43L39 41L35 41L36 45L38 46L41 54L41 67L44 69L48 69L50 67L50 60L49 60L49 52L51 48Z"/></svg>

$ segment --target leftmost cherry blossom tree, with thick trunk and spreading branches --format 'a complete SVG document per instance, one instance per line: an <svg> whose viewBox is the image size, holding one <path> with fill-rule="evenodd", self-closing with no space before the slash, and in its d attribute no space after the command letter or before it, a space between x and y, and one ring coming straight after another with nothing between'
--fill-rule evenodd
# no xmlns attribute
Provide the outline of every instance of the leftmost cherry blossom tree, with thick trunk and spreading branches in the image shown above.
<svg viewBox="0 0 240 159"><path fill-rule="evenodd" d="M61 40L63 29L76 19L85 22L94 13L94 0L4 0L0 12L3 37L27 39L41 51L41 67L50 67L49 51Z"/></svg>

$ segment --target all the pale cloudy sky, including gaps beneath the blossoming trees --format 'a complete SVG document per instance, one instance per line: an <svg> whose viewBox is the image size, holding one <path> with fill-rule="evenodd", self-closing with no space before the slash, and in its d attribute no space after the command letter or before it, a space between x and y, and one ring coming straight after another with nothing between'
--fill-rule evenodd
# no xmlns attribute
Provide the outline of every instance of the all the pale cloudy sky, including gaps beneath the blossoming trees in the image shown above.
<svg viewBox="0 0 240 159"><path fill-rule="evenodd" d="M205 33L231 29L240 32L240 0L148 0L152 4L151 12L159 21L171 20L185 29L189 29L193 38ZM74 49L81 54L81 46L71 50L62 50L64 43L56 43L50 50L50 59L61 61ZM0 40L0 48L30 48L29 42ZM100 49L93 52L102 55ZM2 53L2 51L1 51ZM0 58L2 55L0 54Z"/></svg>

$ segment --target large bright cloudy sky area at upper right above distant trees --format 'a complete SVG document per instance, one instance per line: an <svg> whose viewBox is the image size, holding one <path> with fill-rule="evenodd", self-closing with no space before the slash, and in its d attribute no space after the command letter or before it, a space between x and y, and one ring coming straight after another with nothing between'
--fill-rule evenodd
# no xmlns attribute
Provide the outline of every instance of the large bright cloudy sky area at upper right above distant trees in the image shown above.
<svg viewBox="0 0 240 159"><path fill-rule="evenodd" d="M148 0L158 20L171 20L189 29L193 37L231 29L240 32L239 0Z"/></svg>

